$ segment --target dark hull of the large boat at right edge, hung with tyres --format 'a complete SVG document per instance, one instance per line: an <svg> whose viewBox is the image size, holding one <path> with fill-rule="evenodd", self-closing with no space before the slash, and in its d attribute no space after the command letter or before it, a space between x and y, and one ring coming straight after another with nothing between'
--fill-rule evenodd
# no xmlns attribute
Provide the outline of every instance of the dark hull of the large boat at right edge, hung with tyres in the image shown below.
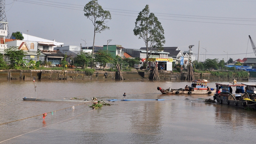
<svg viewBox="0 0 256 144"><path fill-rule="evenodd" d="M235 97L235 94L232 94ZM222 96L222 95L214 95L213 97L214 100L216 100L218 103L225 104L225 105L230 105L233 107L238 107L238 108L249 108L252 110L256 110L256 102L253 101L247 101L247 100L230 100L228 99L227 96Z"/></svg>

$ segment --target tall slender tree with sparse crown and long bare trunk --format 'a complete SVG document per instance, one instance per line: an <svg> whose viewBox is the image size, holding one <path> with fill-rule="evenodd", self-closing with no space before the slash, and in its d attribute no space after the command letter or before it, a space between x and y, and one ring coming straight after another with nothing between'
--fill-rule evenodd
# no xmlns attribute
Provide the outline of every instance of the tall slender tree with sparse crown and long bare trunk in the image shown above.
<svg viewBox="0 0 256 144"><path fill-rule="evenodd" d="M101 33L101 31L109 29L106 26L106 20L111 20L111 14L109 11L104 11L103 8L98 4L98 0L89 1L83 9L85 11L85 16L92 21L94 26L94 36L93 36L93 53L94 54L94 42L95 34Z"/></svg>

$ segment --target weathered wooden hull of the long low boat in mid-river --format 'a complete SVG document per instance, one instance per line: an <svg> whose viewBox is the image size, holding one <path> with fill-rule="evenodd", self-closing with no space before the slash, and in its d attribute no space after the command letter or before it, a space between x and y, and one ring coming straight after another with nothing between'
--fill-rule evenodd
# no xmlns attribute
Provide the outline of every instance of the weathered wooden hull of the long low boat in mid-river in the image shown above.
<svg viewBox="0 0 256 144"><path fill-rule="evenodd" d="M211 95L214 94L215 90L201 90L201 89L194 89L194 91L185 91L185 90L178 90L178 89L172 89L170 91L164 90L160 87L157 87L157 90L161 91L162 94L196 94L196 95Z"/></svg>

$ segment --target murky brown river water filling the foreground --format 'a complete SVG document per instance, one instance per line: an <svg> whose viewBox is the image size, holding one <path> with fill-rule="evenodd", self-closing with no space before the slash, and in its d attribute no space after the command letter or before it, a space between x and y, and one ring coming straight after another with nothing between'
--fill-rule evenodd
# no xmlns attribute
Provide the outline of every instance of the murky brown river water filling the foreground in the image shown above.
<svg viewBox="0 0 256 144"><path fill-rule="evenodd" d="M256 79L249 82L256 83ZM157 90L157 86L184 88L190 82L43 80L35 85L36 96L33 81L0 82L0 143L256 143L256 111L204 102L213 95L162 95ZM215 88L215 82L208 86ZM124 92L125 99L147 101L106 101L121 100ZM86 101L23 101L23 97L97 97L112 105L92 110L92 103Z"/></svg>

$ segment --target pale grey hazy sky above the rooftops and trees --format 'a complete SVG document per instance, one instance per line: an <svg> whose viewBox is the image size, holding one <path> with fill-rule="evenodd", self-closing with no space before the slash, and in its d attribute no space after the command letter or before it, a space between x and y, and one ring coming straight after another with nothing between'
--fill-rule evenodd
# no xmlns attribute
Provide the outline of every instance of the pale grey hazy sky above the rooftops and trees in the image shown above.
<svg viewBox="0 0 256 144"><path fill-rule="evenodd" d="M9 33L19 31L55 39L65 46L93 46L94 27L83 11L88 2L5 0ZM107 21L109 30L96 33L95 46L107 45L112 40L109 45L145 47L133 29L138 13L149 5L164 29L164 47L186 51L194 45L192 51L196 54L200 47L200 61L256 57L248 36L256 42L256 0L98 0L98 3L110 12L112 19Z"/></svg>

